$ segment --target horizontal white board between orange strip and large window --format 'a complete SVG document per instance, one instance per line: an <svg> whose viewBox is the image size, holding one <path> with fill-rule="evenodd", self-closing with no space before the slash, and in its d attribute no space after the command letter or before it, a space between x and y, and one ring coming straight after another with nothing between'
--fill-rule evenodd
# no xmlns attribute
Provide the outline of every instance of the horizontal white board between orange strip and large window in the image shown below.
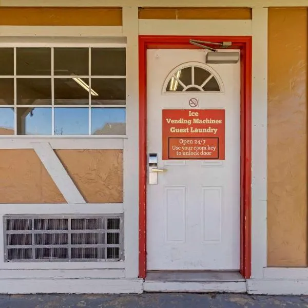
<svg viewBox="0 0 308 308"><path fill-rule="evenodd" d="M36 6L36 5L35 5ZM0 26L0 36L122 36L121 26Z"/></svg>

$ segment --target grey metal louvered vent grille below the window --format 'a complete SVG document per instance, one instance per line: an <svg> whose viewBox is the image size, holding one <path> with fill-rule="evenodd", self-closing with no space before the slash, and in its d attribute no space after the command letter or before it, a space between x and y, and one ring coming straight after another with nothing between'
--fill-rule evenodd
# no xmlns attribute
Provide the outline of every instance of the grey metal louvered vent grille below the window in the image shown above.
<svg viewBox="0 0 308 308"><path fill-rule="evenodd" d="M4 260L123 261L123 215L5 215Z"/></svg>

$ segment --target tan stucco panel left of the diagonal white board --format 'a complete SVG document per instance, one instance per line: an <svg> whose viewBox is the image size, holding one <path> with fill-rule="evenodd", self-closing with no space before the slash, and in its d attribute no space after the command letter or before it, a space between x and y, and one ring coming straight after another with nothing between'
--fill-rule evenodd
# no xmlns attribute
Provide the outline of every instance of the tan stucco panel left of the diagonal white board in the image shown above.
<svg viewBox="0 0 308 308"><path fill-rule="evenodd" d="M65 202L34 150L0 150L0 203Z"/></svg>

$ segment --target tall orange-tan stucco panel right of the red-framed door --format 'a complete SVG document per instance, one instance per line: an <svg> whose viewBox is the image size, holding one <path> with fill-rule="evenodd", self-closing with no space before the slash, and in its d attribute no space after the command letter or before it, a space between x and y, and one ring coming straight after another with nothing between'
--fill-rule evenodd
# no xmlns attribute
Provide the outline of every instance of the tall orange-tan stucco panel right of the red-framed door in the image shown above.
<svg viewBox="0 0 308 308"><path fill-rule="evenodd" d="M269 9L267 265L306 266L307 9Z"/></svg>

